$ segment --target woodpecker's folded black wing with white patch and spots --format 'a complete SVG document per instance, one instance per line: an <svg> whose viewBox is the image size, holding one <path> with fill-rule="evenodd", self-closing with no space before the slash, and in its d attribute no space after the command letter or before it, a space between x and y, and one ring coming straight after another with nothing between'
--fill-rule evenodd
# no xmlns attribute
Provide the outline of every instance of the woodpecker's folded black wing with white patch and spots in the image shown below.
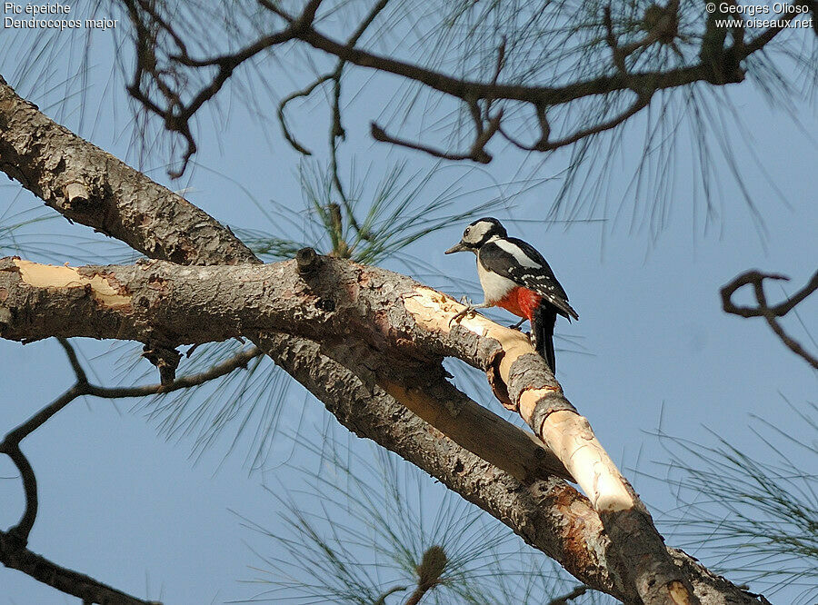
<svg viewBox="0 0 818 605"><path fill-rule="evenodd" d="M516 237L506 237L485 243L477 256L487 271L498 273L524 288L538 293L557 312L568 319L579 319L568 304L568 295L557 282L554 272L534 247Z"/></svg>

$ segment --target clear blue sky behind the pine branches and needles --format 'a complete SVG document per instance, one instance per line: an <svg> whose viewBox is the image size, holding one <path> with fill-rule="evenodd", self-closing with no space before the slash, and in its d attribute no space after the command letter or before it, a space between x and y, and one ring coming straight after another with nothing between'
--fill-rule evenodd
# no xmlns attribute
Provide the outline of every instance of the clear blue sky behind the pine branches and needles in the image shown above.
<svg viewBox="0 0 818 605"><path fill-rule="evenodd" d="M0 40L0 74L17 87L18 93L62 124L112 154L135 162L138 151L130 145L133 123L125 109L122 83L110 79L112 59L110 49L105 47L110 38L96 38L104 44L92 55L85 96L73 95L59 104L65 90L76 89L74 72L65 64L67 57L52 59L51 84L59 85L45 85L44 79L31 76L18 82L18 57L10 44L22 48L30 39L20 33L15 35L7 37L5 43ZM70 69L75 70L76 64L75 56ZM65 78L69 78L67 88L60 84ZM289 89L290 81L284 82ZM390 149L369 139L369 121L381 114L382 105L384 114L388 114L386 105L394 103L390 92L393 84L390 78L375 79L365 99L353 100L352 95L346 99L348 140L342 156L345 173L353 157L362 172L372 164L368 178L373 182L390 163L406 162L410 173L423 173L436 164L422 154ZM659 521L662 511L673 508L673 493L662 481L645 478L633 468L662 474L654 461L669 461L661 443L649 434L659 425L660 411L663 431L710 445L715 443L714 433L750 453L759 447L759 440L748 428L752 416L808 442L815 439L784 401L796 406L814 401L815 372L786 350L762 321L725 315L719 288L738 273L758 268L790 275L792 285L784 288L792 292L814 272L818 233L814 137L818 134L818 120L807 109L808 104L801 104L801 124L794 124L780 108L766 104L751 84L732 86L725 92L751 131L749 140L735 133L733 151L744 183L753 191L763 215L764 243L719 154L713 158L712 169L722 193L717 215L705 229L703 203L701 199L694 203L694 168L686 142L680 145L673 186L663 195L665 199L657 200L670 204L666 226L652 233L641 224L643 212L637 212L639 219L632 224L635 202L633 193L626 190L633 174L629 167L633 165L627 158L641 151L638 122L633 124L633 136L623 141L626 159L622 169L613 172L607 203L581 216L604 222L556 223L548 228L528 222L549 211L560 183L563 155L542 164L542 157L526 158L493 146L494 163L479 169L465 163L452 164L424 190L424 195L432 196L448 183L462 179L457 184L460 195L453 203L464 209L514 191L514 186L504 183L532 174L538 164L542 165L537 168L537 176L555 177L517 195L512 207L496 215L513 219L508 222L509 231L544 253L580 313L579 322L557 324L558 336L564 336L557 340L558 377L568 398L590 420L613 458L622 463L625 474ZM322 148L326 138L327 111L320 98L316 95L315 100L294 112L293 120L294 131L316 150ZM266 223L254 200L265 207L269 207L271 199L300 207L302 195L296 174L299 157L284 143L275 124L263 133L236 96L233 104L226 99L222 114L199 122L201 151L195 156L198 165L182 183L170 186L187 187L188 199L224 223L282 233ZM85 116L81 121L79 109L83 103ZM111 110L115 104L116 115ZM264 106L264 112L272 115L274 104ZM404 132L412 132L411 128L412 124L404 126ZM754 164L751 149L783 200ZM167 183L163 168L166 160L163 155L145 158L149 174L163 183ZM369 181L367 185L371 186ZM617 212L621 204L623 210ZM20 193L17 183L0 185L0 213L8 207L13 208L12 212L22 212L39 205L31 195ZM452 224L415 243L406 253L442 274L470 280L474 293L471 256L443 255L443 250L459 238L462 228L463 224ZM50 242L55 242L50 257L26 254L36 261L76 262L76 255L59 247L58 235L100 239L85 227L70 226L61 218L35 225L29 232L45 234L41 239L46 248L52 248ZM95 248L80 245L80 260L91 261ZM398 264L386 264L405 272ZM456 296L463 293L442 277L415 276ZM770 292L773 297L781 295L775 287ZM813 337L818 337L818 301L813 296L799 310ZM799 322L785 324L796 339L815 350ZM117 344L82 342L79 346L89 363L98 368L96 382L113 384L117 378L114 370L106 360L96 357L111 351L118 356ZM4 367L0 431L23 422L72 380L65 355L55 342L26 346L0 342L0 359ZM145 362L140 369L148 369ZM150 379L155 381L155 376L150 374ZM496 402L486 397L481 401L498 411ZM236 513L267 527L274 525L280 505L261 483L287 485L300 481L290 468L279 466L293 449L287 433L297 429L304 440L320 436L327 422L326 412L320 404L305 401L297 385L292 388L284 406L282 435L267 461L267 471L250 473L244 464L244 453L249 448L246 440L223 461L232 439L227 433L195 461L190 454L195 445L193 437L166 441L157 434L156 423L146 421L144 410L134 409L134 405L132 401L75 401L25 440L24 450L34 465L40 489L40 511L30 548L119 589L165 603L220 603L252 596L257 590L238 581L257 575L249 568L258 565L259 560L246 542L252 542L260 551L273 549L273 543L259 540L241 527ZM298 428L295 419L302 415ZM344 429L338 428L334 434L343 437ZM368 445L354 439L350 443L354 451L368 455ZM804 460L812 465L804 471L818 471L814 456ZM436 497L434 492L429 496ZM7 460L0 460L0 525L5 528L16 522L21 506L15 470ZM670 544L679 544L672 531L668 535ZM697 554L695 549L688 551ZM788 603L795 594L782 590L773 594L772 600ZM64 602L74 600L17 571L0 569L0 603Z"/></svg>

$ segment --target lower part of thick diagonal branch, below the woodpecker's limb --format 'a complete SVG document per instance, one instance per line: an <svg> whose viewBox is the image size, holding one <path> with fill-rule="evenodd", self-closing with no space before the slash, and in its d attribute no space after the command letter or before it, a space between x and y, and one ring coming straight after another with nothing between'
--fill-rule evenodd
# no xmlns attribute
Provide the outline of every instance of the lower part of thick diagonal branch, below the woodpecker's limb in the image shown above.
<svg viewBox="0 0 818 605"><path fill-rule="evenodd" d="M286 372L299 376L299 382L347 429L391 444L405 460L502 521L526 543L558 560L578 580L617 599L638 602L633 586L617 575L611 542L584 495L554 477L521 483L444 438L441 431L410 412L404 402L362 378L371 375L364 366L377 363L379 352L365 347L351 352L343 343L321 346L279 334L262 335L259 345ZM341 358L344 365L336 361ZM423 375L416 378L427 380ZM494 450L504 454L502 441L494 443Z"/></svg>

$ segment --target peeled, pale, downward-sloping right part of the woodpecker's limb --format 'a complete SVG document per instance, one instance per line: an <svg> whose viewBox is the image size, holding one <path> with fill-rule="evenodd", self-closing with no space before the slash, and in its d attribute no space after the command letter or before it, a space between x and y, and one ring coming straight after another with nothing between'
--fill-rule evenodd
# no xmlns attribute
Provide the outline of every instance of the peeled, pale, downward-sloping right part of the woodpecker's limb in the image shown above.
<svg viewBox="0 0 818 605"><path fill-rule="evenodd" d="M425 329L443 334L456 329L450 322L464 309L454 299L423 287L404 297L404 306ZM627 561L624 571L642 600L668 605L701 602L693 584L664 551L647 509L597 441L590 423L564 399L544 360L537 367L538 356L532 355L528 338L477 314L465 316L456 325L499 344L500 351L491 350L480 360L490 379L492 372L499 374L492 380L498 399L522 415L583 488L606 530L616 536L614 547ZM527 382L518 384L515 367L521 363L530 368ZM498 378L504 388L497 388Z"/></svg>

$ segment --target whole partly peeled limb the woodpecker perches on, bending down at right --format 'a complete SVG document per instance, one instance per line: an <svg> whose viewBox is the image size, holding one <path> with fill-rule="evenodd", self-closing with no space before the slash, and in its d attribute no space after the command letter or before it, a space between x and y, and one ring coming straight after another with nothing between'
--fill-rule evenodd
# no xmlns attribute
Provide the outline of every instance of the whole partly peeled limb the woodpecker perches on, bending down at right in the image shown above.
<svg viewBox="0 0 818 605"><path fill-rule="evenodd" d="M564 400L523 334L475 316L462 322L471 337L457 338L463 329L453 334L448 327L462 308L454 299L376 267L327 257L310 264L305 273L303 263L299 272L294 261L232 267L153 261L74 269L7 259L0 263L0 289L8 293L0 303L0 336L116 337L173 346L274 330L327 344L357 341L385 352L387 365L405 368L454 354L499 373L510 403L563 461L605 528L615 531L621 560L632 563L624 571L643 600L654 602L644 596L657 593L668 598L663 602L698 602L633 488L589 423ZM418 298L424 304L414 307ZM402 301L412 302L407 308ZM483 342L489 340L494 342ZM383 358L375 363L384 365ZM410 399L408 390L390 386ZM683 600L673 597L677 593Z"/></svg>

